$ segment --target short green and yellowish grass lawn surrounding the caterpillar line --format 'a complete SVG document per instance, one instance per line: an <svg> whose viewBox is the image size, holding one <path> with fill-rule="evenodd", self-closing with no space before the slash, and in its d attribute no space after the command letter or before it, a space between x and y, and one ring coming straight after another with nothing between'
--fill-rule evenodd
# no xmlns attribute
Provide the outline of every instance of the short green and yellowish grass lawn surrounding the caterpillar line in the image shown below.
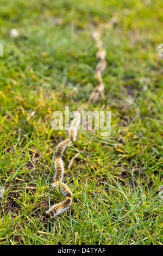
<svg viewBox="0 0 163 256"><path fill-rule="evenodd" d="M1 1L1 245L162 245L162 2ZM96 86L90 28L102 35L111 133L80 131L64 154L71 209L43 220L54 192L54 150L67 138L52 114L85 102ZM9 35L12 28L20 35ZM68 163L76 154L72 166Z"/></svg>

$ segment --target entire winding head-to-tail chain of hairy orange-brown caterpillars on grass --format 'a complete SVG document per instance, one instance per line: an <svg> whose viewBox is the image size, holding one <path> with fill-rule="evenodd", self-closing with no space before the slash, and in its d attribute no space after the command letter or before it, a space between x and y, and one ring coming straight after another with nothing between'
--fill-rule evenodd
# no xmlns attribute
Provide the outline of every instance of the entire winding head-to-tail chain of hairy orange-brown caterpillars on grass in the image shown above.
<svg viewBox="0 0 163 256"><path fill-rule="evenodd" d="M114 23L112 22L112 24ZM95 31L92 33L92 38L96 42L96 47L98 48L98 51L96 53L96 58L99 60L99 62L95 68L98 84L95 87L95 90L93 90L93 92L91 93L89 101L85 103L85 107L88 106L88 103L96 102L99 98L99 95L104 92L102 72L106 68L106 61L105 61L106 51L103 47L103 42L100 40L100 35L102 33L103 28L108 28L108 25L110 27L111 23L107 23L104 26L103 25L100 26L98 31ZM60 142L55 150L55 157L54 157L55 174L54 174L54 180L53 180L52 186L54 190L59 190L62 196L64 196L66 199L58 204L54 204L53 206L51 206L51 208L46 212L46 215L45 215L46 218L53 218L55 216L60 215L62 212L65 212L68 208L70 208L72 203L72 192L67 187L67 185L62 182L62 179L64 176L64 163L62 161L62 155L64 154L66 147L71 145L73 141L76 141L77 127L80 125L79 110L81 110L81 107L78 108L78 111L75 113L75 118L71 122L68 138Z"/></svg>

